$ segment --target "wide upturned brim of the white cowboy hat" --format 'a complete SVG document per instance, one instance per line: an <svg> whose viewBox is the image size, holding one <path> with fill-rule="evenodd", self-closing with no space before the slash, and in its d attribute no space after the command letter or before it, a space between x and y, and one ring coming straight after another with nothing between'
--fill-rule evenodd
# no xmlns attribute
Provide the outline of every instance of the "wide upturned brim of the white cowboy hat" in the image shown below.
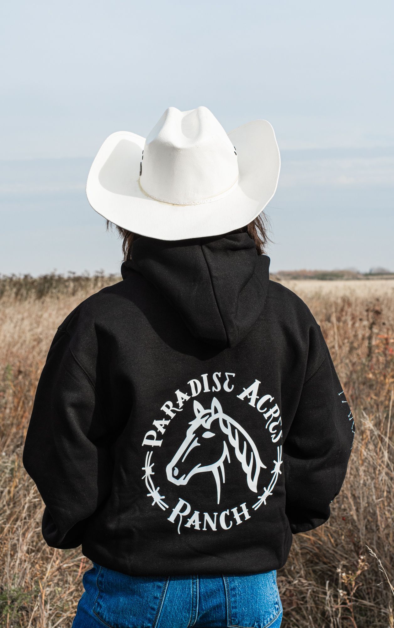
<svg viewBox="0 0 394 628"><path fill-rule="evenodd" d="M237 149L238 182L217 200L173 205L147 196L139 185L145 138L118 131L104 141L92 163L86 186L88 202L119 227L160 240L218 236L243 227L274 196L280 154L267 120L247 122L228 137Z"/></svg>

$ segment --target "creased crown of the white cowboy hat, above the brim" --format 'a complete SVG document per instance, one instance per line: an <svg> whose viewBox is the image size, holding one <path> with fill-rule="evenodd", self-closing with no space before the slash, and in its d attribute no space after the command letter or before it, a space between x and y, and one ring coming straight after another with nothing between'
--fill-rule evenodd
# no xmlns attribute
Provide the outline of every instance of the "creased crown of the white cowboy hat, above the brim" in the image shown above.
<svg viewBox="0 0 394 628"><path fill-rule="evenodd" d="M140 185L150 197L175 205L216 200L238 180L237 154L207 107L169 107L148 134Z"/></svg>

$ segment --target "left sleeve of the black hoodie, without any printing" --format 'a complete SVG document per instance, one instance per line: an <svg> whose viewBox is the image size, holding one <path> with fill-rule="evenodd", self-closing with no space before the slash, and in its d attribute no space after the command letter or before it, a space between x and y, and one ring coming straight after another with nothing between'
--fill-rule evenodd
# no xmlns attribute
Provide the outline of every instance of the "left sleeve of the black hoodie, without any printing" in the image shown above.
<svg viewBox="0 0 394 628"><path fill-rule="evenodd" d="M42 534L50 547L76 548L87 517L110 493L107 426L95 386L60 327L36 389L23 449L45 511Z"/></svg>

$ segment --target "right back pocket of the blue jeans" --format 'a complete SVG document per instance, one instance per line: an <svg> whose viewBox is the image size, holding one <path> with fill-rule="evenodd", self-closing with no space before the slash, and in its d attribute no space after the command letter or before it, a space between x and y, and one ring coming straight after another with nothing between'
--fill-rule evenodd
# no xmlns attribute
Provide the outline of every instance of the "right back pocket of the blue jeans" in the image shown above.
<svg viewBox="0 0 394 628"><path fill-rule="evenodd" d="M276 570L252 575L225 575L228 628L269 628L279 624L283 608Z"/></svg>

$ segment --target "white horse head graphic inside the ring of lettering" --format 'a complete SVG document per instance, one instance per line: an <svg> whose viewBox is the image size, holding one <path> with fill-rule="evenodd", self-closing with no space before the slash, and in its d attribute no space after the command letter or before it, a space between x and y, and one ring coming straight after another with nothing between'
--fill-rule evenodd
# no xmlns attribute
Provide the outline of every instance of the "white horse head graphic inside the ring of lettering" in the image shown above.
<svg viewBox="0 0 394 628"><path fill-rule="evenodd" d="M194 414L189 421L186 436L166 467L167 477L173 484L188 484L196 473L211 472L215 477L220 502L221 479L225 483L224 461L230 463L230 451L242 464L250 490L257 492L257 480L260 468L267 468L260 460L257 447L247 431L223 413L221 405L214 397L211 408L205 409L198 401L194 401ZM209 443L209 446L208 446Z"/></svg>

